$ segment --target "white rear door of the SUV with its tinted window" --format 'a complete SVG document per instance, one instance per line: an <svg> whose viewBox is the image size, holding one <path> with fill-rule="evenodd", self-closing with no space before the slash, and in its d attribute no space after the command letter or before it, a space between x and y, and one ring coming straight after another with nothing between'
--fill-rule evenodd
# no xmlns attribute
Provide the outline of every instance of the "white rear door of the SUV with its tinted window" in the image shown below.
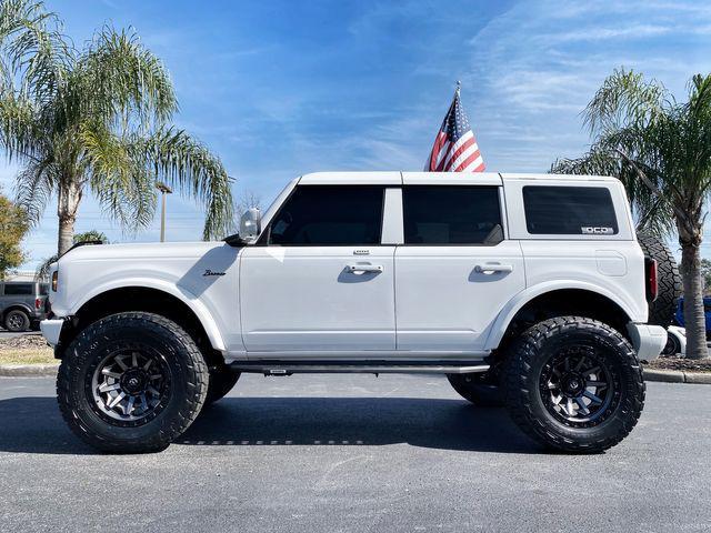
<svg viewBox="0 0 711 533"><path fill-rule="evenodd" d="M519 242L505 238L500 178L442 181L404 174L404 244L395 252L399 351L482 350L498 313L525 285Z"/></svg>

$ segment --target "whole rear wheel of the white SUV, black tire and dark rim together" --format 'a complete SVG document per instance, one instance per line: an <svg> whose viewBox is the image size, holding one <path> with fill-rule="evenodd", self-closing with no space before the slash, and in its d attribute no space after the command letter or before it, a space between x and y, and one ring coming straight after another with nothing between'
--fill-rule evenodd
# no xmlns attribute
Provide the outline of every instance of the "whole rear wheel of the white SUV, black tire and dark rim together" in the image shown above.
<svg viewBox="0 0 711 533"><path fill-rule="evenodd" d="M521 334L504 378L513 421L554 450L602 452L624 439L642 412L637 354L618 331L561 316Z"/></svg>

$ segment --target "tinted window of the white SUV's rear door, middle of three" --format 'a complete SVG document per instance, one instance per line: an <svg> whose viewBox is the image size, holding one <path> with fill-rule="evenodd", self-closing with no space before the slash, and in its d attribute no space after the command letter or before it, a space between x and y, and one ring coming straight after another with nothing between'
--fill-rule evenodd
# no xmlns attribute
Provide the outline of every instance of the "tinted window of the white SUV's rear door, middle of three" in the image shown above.
<svg viewBox="0 0 711 533"><path fill-rule="evenodd" d="M414 185L402 193L405 244L495 244L503 239L495 187Z"/></svg>

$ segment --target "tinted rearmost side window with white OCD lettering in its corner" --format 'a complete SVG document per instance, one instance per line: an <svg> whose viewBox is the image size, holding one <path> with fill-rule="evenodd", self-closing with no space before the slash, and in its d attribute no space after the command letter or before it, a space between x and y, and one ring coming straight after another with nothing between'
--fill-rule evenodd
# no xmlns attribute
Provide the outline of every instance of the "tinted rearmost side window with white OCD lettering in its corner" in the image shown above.
<svg viewBox="0 0 711 533"><path fill-rule="evenodd" d="M523 188L525 225L533 234L609 235L618 232L610 191L600 187Z"/></svg>

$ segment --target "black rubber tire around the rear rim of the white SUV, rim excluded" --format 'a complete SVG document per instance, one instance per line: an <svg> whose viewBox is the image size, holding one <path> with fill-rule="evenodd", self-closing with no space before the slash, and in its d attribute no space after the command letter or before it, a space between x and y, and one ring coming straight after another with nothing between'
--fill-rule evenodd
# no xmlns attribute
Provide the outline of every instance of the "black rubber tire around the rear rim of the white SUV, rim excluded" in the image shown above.
<svg viewBox="0 0 711 533"><path fill-rule="evenodd" d="M554 418L543 403L543 368L561 349L593 349L614 369L619 382L614 410L590 428L573 428ZM582 316L540 322L512 344L503 379L507 408L523 432L549 449L568 453L599 453L618 444L637 424L645 386L634 349L618 331Z"/></svg>

